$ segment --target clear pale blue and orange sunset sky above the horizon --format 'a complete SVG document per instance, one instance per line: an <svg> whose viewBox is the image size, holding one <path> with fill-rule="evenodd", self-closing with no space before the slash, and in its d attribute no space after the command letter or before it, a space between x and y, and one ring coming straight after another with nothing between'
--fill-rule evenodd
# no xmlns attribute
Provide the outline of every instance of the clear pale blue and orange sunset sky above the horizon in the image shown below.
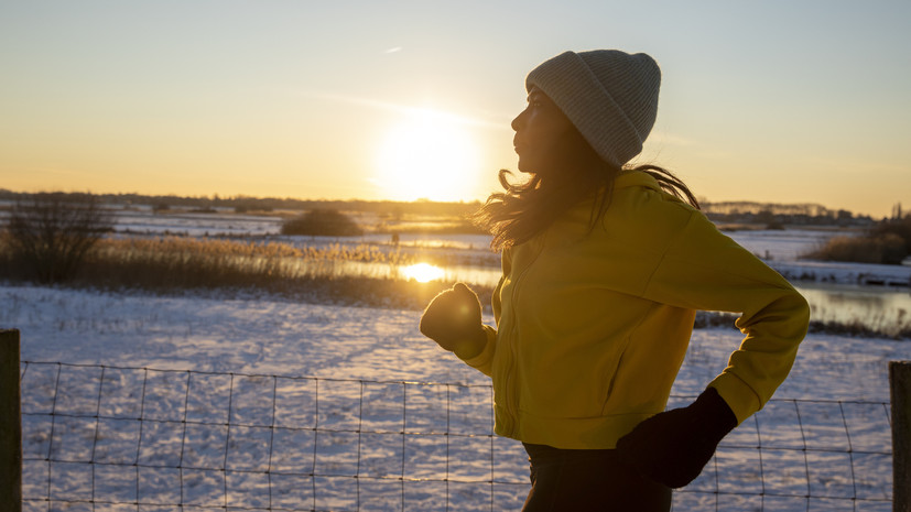
<svg viewBox="0 0 911 512"><path fill-rule="evenodd" d="M709 201L911 207L911 2L0 0L0 188L477 200L524 77L662 69L638 163Z"/></svg>

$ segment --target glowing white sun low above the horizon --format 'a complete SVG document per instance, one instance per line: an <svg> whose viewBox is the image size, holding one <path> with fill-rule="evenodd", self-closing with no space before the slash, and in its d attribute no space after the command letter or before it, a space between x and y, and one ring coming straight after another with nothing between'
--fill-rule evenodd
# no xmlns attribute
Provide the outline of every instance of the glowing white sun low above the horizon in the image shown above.
<svg viewBox="0 0 911 512"><path fill-rule="evenodd" d="M480 177L478 144L457 116L414 110L389 129L377 155L377 184L394 200L466 200Z"/></svg>

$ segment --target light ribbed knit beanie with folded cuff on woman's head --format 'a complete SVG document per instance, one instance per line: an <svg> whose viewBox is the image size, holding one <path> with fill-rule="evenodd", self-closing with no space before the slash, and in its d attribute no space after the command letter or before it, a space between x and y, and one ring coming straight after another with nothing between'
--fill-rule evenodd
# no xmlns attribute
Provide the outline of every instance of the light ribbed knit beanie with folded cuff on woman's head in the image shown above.
<svg viewBox="0 0 911 512"><path fill-rule="evenodd" d="M621 167L642 151L658 116L661 69L644 53L565 52L532 69L538 86L570 118L592 148Z"/></svg>

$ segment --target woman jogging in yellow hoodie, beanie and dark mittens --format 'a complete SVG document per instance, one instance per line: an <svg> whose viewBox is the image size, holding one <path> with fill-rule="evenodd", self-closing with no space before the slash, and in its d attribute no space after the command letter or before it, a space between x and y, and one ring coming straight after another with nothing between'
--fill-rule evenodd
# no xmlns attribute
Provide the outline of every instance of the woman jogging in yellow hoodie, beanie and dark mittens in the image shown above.
<svg viewBox="0 0 911 512"><path fill-rule="evenodd" d="M506 192L478 213L502 250L497 327L460 283L421 318L492 378L495 432L529 453L527 511L670 510L671 488L771 397L806 334L804 298L722 235L683 183L623 167L654 123L660 80L651 57L619 51L533 69L512 121L530 179L501 172ZM746 337L693 404L662 412L697 309L741 314Z"/></svg>

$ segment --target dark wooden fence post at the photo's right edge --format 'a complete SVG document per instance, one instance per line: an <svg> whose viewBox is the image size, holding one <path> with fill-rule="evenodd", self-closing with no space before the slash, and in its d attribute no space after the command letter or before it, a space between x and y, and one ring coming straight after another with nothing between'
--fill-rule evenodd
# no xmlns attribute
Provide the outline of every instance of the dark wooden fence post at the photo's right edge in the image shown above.
<svg viewBox="0 0 911 512"><path fill-rule="evenodd" d="M892 511L911 512L911 361L889 362L892 395Z"/></svg>

